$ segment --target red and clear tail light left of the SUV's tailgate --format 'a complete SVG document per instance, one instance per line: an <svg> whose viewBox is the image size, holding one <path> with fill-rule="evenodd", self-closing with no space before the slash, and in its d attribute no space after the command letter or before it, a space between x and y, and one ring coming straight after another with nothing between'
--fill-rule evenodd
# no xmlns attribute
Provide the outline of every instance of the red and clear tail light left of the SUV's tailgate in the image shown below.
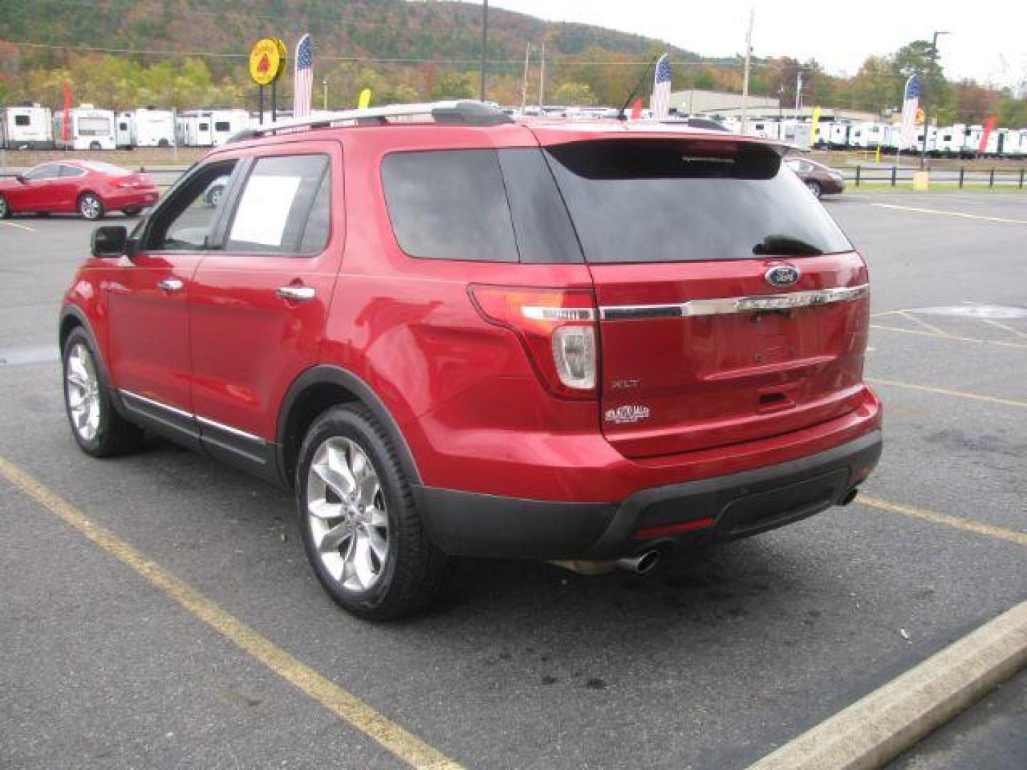
<svg viewBox="0 0 1027 770"><path fill-rule="evenodd" d="M596 301L589 290L471 285L468 292L483 318L517 334L551 393L596 397Z"/></svg>

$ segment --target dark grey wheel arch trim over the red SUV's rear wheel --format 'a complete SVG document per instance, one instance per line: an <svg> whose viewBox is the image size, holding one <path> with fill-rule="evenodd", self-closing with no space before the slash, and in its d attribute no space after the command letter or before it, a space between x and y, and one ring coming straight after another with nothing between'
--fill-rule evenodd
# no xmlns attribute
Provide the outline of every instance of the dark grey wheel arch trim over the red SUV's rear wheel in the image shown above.
<svg viewBox="0 0 1027 770"><path fill-rule="evenodd" d="M277 426L277 465L287 487L293 487L303 437L325 410L339 403L359 402L371 410L395 448L400 464L412 484L421 483L410 446L398 423L381 397L352 372L331 364L312 367L290 386L282 399Z"/></svg>

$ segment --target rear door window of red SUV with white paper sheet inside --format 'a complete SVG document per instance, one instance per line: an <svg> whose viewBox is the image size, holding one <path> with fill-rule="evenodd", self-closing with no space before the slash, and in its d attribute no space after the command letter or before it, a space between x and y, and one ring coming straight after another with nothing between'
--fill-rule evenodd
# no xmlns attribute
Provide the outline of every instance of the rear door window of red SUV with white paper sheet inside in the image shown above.
<svg viewBox="0 0 1027 770"><path fill-rule="evenodd" d="M260 158L239 195L225 251L309 254L324 248L331 198L328 169L327 155Z"/></svg>

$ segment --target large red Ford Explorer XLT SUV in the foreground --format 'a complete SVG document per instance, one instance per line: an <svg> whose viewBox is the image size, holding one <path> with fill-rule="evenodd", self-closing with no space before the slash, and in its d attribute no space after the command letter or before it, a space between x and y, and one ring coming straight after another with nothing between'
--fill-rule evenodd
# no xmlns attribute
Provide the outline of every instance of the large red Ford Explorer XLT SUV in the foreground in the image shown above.
<svg viewBox="0 0 1027 770"><path fill-rule="evenodd" d="M152 431L295 489L365 617L452 556L642 571L849 502L880 454L867 267L767 142L342 113L240 134L92 254L61 315L78 444Z"/></svg>

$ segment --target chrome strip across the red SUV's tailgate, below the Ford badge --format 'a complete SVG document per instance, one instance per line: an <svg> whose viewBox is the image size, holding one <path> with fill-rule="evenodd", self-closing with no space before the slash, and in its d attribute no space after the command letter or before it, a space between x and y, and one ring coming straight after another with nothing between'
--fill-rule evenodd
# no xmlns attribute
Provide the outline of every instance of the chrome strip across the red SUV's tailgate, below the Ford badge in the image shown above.
<svg viewBox="0 0 1027 770"><path fill-rule="evenodd" d="M711 300L688 300L671 305L607 305L599 309L603 320L634 320L638 318L683 318L698 315L727 315L731 313L760 313L773 310L791 310L798 307L830 305L849 302L865 296L870 286L838 286L809 292L725 297Z"/></svg>

